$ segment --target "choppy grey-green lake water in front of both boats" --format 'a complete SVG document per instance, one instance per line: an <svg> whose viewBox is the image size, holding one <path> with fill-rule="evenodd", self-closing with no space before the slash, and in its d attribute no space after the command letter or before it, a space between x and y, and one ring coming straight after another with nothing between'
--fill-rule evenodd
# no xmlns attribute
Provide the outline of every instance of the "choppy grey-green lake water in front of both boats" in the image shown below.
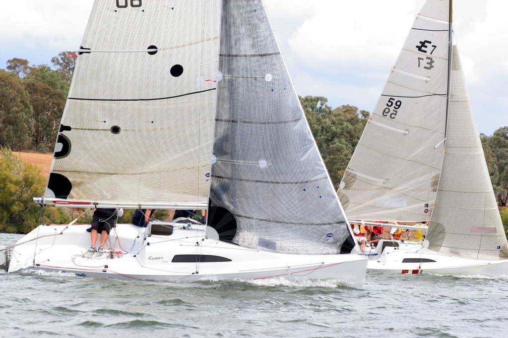
<svg viewBox="0 0 508 338"><path fill-rule="evenodd" d="M0 233L1 244L21 235ZM117 281L0 270L3 337L504 337L508 279Z"/></svg>

